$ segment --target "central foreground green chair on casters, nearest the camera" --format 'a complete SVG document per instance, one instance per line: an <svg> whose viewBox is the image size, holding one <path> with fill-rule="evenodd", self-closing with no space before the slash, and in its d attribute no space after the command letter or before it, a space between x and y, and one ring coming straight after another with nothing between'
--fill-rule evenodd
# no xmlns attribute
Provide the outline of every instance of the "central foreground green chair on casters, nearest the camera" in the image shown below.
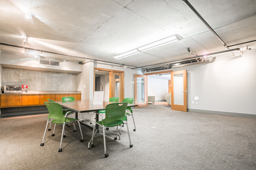
<svg viewBox="0 0 256 170"><path fill-rule="evenodd" d="M115 127L115 126L117 126L117 130L118 130L119 125L126 124L127 132L128 132L128 136L129 136L129 141L130 141L130 148L132 148L132 146L133 146L132 143L131 143L128 123L127 123L127 117L126 117L126 113L125 113L127 105L128 105L127 102L108 104L106 106L105 119L103 119L103 116L101 115L102 120L101 121L96 121L95 124L93 125L93 136L95 134L94 132L95 132L96 124L98 124L99 126L102 127L105 157L108 157L107 150L106 150L106 139L105 139L105 128L104 128L105 126L106 127ZM126 122L124 123L124 121L126 121ZM120 137L120 135L119 135L119 137ZM114 139L115 140L117 139L117 131L116 131L116 135L115 135ZM91 139L91 147L94 147L93 137Z"/></svg>

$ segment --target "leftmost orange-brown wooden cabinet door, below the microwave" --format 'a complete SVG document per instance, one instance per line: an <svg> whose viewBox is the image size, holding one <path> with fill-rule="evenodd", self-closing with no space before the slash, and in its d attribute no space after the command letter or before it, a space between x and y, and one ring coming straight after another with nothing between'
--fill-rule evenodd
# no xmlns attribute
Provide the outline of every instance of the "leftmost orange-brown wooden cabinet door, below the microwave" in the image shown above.
<svg viewBox="0 0 256 170"><path fill-rule="evenodd" d="M1 95L1 106L21 106L22 98L20 95Z"/></svg>

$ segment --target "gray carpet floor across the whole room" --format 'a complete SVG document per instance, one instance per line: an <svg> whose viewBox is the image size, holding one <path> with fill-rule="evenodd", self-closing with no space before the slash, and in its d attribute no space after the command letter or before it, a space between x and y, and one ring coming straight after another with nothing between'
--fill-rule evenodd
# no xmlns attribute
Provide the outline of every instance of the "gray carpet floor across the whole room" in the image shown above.
<svg viewBox="0 0 256 170"><path fill-rule="evenodd" d="M129 147L126 126L121 140L106 138L104 157L102 134L88 150L92 130L78 124L66 128L63 151L58 152L61 130L46 132L47 114L0 119L1 170L256 170L256 119L194 112L179 112L154 104L134 108L128 125L133 147ZM90 114L85 114L89 122ZM53 128L52 128L53 129ZM115 131L115 128L109 130Z"/></svg>

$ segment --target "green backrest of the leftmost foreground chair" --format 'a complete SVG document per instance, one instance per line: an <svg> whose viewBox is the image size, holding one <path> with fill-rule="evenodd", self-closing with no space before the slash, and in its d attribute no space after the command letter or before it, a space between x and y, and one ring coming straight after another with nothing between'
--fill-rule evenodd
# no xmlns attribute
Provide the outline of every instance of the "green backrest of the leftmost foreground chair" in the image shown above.
<svg viewBox="0 0 256 170"><path fill-rule="evenodd" d="M55 102L44 102L48 111L48 119L57 119L58 121L65 122L67 117L63 116L62 107L60 104Z"/></svg>

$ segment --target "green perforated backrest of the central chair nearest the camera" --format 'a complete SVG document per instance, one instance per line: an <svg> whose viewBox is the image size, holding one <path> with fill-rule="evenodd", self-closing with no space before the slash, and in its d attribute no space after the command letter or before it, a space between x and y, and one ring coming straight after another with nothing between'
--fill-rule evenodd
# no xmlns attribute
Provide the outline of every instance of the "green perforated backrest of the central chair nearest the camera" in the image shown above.
<svg viewBox="0 0 256 170"><path fill-rule="evenodd" d="M125 113L127 105L128 102L108 104L106 106L106 117L102 119L102 124L108 124L117 120L127 121Z"/></svg>

